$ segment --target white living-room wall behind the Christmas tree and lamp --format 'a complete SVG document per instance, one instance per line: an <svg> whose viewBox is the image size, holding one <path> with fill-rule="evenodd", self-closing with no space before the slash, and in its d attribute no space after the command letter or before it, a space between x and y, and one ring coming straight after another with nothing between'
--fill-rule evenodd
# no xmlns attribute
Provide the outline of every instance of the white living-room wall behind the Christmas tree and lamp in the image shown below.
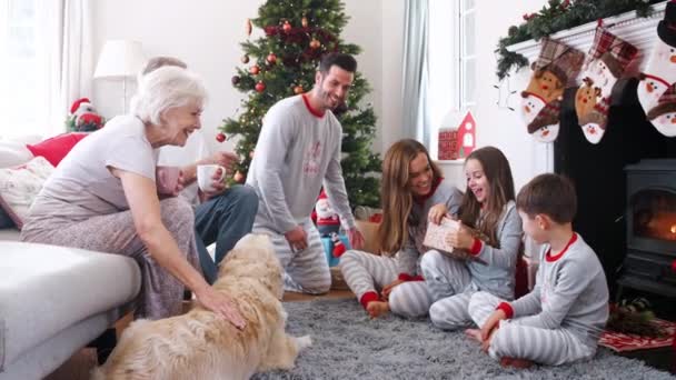
<svg viewBox="0 0 676 380"><path fill-rule="evenodd" d="M374 92L366 99L378 117L376 151L385 151L402 137L401 131L401 62L405 0L344 0L350 17L344 31L347 42L362 48L357 57L359 71ZM451 1L451 0L431 0ZM534 174L547 168L543 162L546 146L535 142L526 132L516 111L497 104L498 83L495 76L495 48L509 26L523 22L523 14L540 9L546 0L476 1L477 7L477 99L473 110L478 122L477 144L496 146L510 160L515 184L520 188ZM147 54L176 56L185 60L206 80L210 102L202 122L205 136L212 148L223 148L213 140L221 120L231 117L239 107L241 94L230 84L235 67L242 54L239 43L246 39L245 21L257 16L264 0L249 1L161 1L99 0L93 6L96 26L95 57L107 39L127 38L143 43ZM449 16L449 20L453 17ZM256 37L257 31L252 34ZM438 43L438 42L436 42ZM435 47L430 47L435 49ZM446 68L451 68L453 62ZM436 77L431 72L433 80ZM520 92L529 70L520 70L510 79L510 104L519 106ZM128 91L131 92L131 91ZM121 111L121 86L95 82L95 102L105 116ZM229 148L229 144L225 144Z"/></svg>

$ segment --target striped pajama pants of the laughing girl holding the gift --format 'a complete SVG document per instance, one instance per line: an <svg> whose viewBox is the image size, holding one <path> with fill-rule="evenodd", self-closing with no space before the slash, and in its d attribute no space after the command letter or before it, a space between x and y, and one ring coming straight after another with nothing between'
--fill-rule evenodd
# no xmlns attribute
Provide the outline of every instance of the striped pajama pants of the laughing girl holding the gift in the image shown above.
<svg viewBox="0 0 676 380"><path fill-rule="evenodd" d="M433 324L444 330L471 324L467 306L478 288L465 263L431 250L422 256L420 270L434 302L429 308Z"/></svg>

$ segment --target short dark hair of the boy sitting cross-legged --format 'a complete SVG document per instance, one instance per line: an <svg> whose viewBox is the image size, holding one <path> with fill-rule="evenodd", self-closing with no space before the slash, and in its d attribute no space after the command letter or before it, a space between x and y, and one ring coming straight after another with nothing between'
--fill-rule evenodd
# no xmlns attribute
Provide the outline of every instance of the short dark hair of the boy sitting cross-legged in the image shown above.
<svg viewBox="0 0 676 380"><path fill-rule="evenodd" d="M564 176L539 174L521 188L516 208L530 218L544 213L559 224L573 222L577 211L575 186Z"/></svg>

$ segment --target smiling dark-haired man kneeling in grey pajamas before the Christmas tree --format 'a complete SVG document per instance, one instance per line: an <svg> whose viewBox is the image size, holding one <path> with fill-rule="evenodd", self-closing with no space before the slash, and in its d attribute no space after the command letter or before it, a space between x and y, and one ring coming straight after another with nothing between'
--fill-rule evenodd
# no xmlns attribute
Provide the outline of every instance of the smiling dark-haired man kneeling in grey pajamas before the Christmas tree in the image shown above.
<svg viewBox="0 0 676 380"><path fill-rule="evenodd" d="M270 236L289 291L319 294L331 286L319 232L310 220L322 184L351 246L364 243L340 168L342 127L332 112L344 104L356 70L351 56L324 56L312 90L277 102L264 118L247 177L259 198L254 232Z"/></svg>

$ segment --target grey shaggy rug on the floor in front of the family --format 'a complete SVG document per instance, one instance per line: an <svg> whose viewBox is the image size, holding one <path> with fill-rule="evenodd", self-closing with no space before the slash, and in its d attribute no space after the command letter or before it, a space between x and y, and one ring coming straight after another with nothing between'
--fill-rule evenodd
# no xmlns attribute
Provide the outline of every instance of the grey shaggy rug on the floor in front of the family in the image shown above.
<svg viewBox="0 0 676 380"><path fill-rule="evenodd" d="M446 332L429 320L398 317L370 320L356 299L286 302L294 336L309 334L291 371L259 373L268 379L674 379L639 360L599 348L592 361L560 367L504 369L463 331Z"/></svg>

